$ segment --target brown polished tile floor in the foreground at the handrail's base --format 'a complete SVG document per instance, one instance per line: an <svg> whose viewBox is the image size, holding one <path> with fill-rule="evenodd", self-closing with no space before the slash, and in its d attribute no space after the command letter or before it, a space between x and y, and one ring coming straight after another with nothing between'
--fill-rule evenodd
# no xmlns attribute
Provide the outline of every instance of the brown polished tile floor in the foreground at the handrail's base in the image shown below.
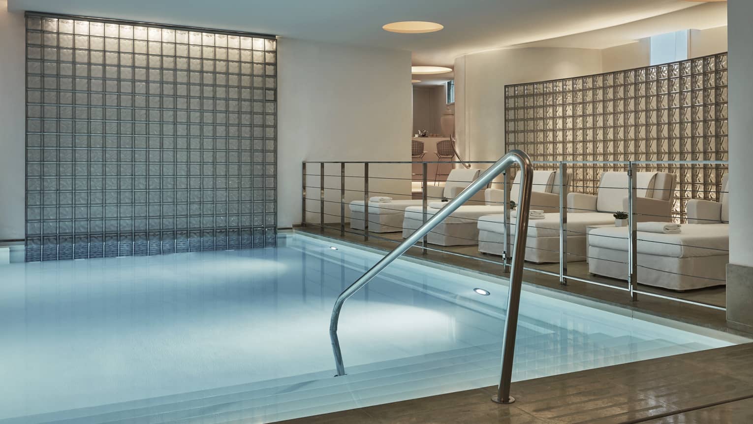
<svg viewBox="0 0 753 424"><path fill-rule="evenodd" d="M286 423L747 423L753 380L736 376L751 369L748 343L516 382L511 405L490 401L496 388L486 387Z"/></svg>

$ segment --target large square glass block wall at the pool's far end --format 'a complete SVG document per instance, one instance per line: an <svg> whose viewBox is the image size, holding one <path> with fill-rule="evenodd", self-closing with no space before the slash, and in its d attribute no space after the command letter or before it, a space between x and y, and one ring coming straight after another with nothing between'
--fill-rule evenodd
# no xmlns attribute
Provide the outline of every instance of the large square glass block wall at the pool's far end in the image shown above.
<svg viewBox="0 0 753 424"><path fill-rule="evenodd" d="M26 15L26 260L270 246L276 40Z"/></svg>

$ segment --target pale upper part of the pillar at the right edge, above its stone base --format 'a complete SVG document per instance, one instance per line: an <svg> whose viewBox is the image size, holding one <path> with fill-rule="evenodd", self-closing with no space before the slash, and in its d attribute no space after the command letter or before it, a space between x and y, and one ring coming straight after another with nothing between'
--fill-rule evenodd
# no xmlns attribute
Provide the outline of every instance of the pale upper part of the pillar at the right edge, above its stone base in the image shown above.
<svg viewBox="0 0 753 424"><path fill-rule="evenodd" d="M730 264L753 267L753 2L727 5L729 27Z"/></svg>

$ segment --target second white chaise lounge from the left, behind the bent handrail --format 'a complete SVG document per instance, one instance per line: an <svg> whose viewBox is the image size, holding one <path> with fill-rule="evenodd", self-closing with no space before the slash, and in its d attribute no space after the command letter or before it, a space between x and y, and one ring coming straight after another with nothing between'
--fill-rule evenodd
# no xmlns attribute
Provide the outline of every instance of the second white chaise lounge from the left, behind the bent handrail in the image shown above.
<svg viewBox="0 0 753 424"><path fill-rule="evenodd" d="M511 185L510 200L518 203L520 187L520 172L515 175ZM566 178L565 184L568 184ZM559 172L534 171L533 191L531 194L531 209L544 212L556 212L559 207ZM441 224L428 233L428 243L440 246L472 246L478 243L478 220L484 215L505 213L505 192L498 188L487 188L484 191L485 204L468 204L460 206ZM444 203L431 202L426 210L427 218L439 212ZM403 220L403 237L413 234L423 223L422 206L410 206L405 209Z"/></svg>

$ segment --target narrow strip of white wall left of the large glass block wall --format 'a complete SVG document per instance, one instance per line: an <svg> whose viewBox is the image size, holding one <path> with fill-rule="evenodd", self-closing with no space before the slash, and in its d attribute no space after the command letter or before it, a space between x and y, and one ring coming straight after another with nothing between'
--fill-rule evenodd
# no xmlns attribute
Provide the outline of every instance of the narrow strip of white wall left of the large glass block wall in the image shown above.
<svg viewBox="0 0 753 424"><path fill-rule="evenodd" d="M0 240L23 239L26 163L26 29L0 0Z"/></svg>

